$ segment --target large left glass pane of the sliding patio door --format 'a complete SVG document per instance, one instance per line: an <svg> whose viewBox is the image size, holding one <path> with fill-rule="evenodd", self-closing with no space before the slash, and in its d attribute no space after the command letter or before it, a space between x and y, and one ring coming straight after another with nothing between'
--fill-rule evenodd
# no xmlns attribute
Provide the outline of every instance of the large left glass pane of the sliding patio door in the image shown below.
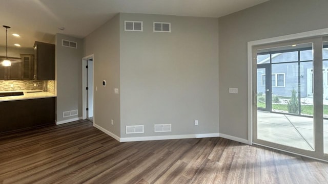
<svg viewBox="0 0 328 184"><path fill-rule="evenodd" d="M269 146L314 151L313 43L266 48L257 54L256 140Z"/></svg>

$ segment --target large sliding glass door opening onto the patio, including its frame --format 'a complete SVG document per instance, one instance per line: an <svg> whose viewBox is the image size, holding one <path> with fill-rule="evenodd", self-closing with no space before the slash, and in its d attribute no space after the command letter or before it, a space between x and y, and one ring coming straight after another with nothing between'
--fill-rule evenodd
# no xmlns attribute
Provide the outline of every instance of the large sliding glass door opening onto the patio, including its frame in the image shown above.
<svg viewBox="0 0 328 184"><path fill-rule="evenodd" d="M324 158L323 152L328 153L328 40L258 45L252 53L257 76L253 143Z"/></svg>

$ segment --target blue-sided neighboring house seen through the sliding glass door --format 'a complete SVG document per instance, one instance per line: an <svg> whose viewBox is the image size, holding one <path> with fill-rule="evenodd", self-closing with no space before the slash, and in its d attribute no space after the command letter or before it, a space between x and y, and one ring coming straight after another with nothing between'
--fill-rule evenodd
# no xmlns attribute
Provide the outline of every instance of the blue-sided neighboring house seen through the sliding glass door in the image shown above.
<svg viewBox="0 0 328 184"><path fill-rule="evenodd" d="M328 98L328 49L323 49L323 98ZM298 91L300 79L301 98L313 97L313 51L302 50L283 53L265 53L257 56L258 64L270 63L272 71L272 95L291 97L291 91ZM298 66L300 61L300 67ZM257 72L257 91L264 94L265 73L264 69Z"/></svg>

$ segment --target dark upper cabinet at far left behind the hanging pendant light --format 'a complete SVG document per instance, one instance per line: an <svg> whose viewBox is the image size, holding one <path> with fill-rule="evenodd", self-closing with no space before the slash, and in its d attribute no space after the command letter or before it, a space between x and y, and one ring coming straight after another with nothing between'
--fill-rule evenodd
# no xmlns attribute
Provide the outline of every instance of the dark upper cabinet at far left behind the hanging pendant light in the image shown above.
<svg viewBox="0 0 328 184"><path fill-rule="evenodd" d="M1 57L0 60L4 60ZM0 64L0 80L20 80L22 79L22 62L20 58L9 58L11 66L3 66Z"/></svg>

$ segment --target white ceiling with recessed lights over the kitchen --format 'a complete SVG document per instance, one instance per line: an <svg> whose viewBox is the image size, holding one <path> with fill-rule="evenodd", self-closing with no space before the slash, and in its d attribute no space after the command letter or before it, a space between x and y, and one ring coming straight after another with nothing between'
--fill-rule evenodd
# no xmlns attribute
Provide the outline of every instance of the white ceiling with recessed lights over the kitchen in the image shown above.
<svg viewBox="0 0 328 184"><path fill-rule="evenodd" d="M0 25L8 46L33 47L56 33L83 38L119 12L220 17L268 0L1 0ZM65 27L64 31L58 27ZM1 27L0 45L6 45ZM12 36L18 33L20 38Z"/></svg>

